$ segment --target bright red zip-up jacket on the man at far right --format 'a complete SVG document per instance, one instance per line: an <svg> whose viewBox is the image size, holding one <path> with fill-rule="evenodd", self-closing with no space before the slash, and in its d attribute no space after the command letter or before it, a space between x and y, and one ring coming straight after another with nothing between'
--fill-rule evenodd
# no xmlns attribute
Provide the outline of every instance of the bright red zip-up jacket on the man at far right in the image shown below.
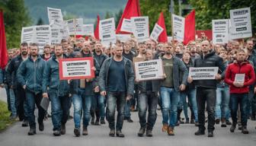
<svg viewBox="0 0 256 146"><path fill-rule="evenodd" d="M243 87L235 87L233 82L235 81L235 74L245 74L245 82ZM245 94L249 92L249 85L254 84L255 74L254 68L248 62L234 63L230 64L226 68L225 82L229 84L229 91L231 94Z"/></svg>

